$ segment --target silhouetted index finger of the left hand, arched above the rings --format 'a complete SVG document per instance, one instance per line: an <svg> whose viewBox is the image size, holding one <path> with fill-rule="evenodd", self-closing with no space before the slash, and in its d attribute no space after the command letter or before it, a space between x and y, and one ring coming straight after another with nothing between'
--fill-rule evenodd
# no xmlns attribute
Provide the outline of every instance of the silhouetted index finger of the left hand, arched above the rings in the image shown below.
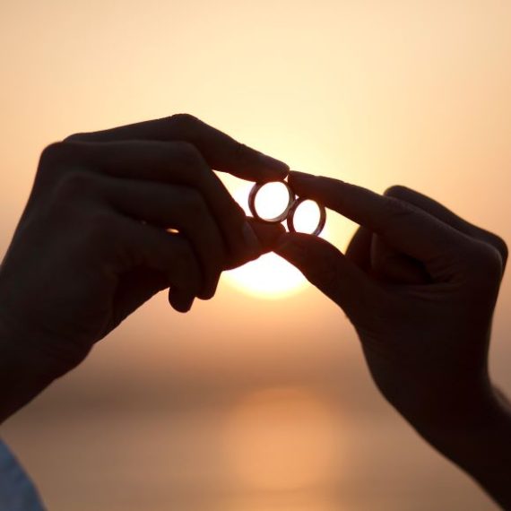
<svg viewBox="0 0 511 511"><path fill-rule="evenodd" d="M195 145L212 169L229 172L238 178L264 182L283 179L289 172L288 165L282 161L239 143L228 134L188 114L176 114L93 133L74 134L66 140L187 142Z"/></svg>

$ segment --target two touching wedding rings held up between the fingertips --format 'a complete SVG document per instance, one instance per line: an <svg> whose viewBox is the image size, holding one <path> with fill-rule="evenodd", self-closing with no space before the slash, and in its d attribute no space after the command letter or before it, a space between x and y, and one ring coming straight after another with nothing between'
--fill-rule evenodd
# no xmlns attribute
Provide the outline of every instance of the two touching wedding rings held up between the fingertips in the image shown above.
<svg viewBox="0 0 511 511"><path fill-rule="evenodd" d="M271 187L273 187L273 193L270 190ZM280 187L277 194L274 193L276 187ZM267 193L268 191L270 191L270 193ZM266 204L259 204L264 195L266 195ZM296 219L300 214L300 210L305 211L307 209L305 206L307 203L314 204L317 212L314 215L312 227L308 225L306 230L302 230L299 225L296 225ZM267 207L268 204L270 205L269 208ZM299 197L286 181L255 183L248 195L248 207L257 220L266 223L281 223L282 221L286 221L290 232L307 232L307 234L318 236L325 227L325 207L322 204L317 204L315 201L307 199L307 197Z"/></svg>

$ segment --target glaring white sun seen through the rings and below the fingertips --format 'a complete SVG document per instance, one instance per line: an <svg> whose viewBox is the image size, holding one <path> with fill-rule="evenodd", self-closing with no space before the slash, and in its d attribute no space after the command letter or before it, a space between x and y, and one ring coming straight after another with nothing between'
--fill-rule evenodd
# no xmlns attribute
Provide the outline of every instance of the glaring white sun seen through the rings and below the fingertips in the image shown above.
<svg viewBox="0 0 511 511"><path fill-rule="evenodd" d="M222 178L224 177L222 176ZM248 195L253 184L231 178L227 180L226 186L238 204L247 214L250 214ZM266 212L265 218L272 218L279 212L279 207L276 207L276 204L283 202L285 205L286 201L287 192L282 191L282 186L278 186L278 184L268 186L264 190L264 194L257 195L257 212ZM314 230L314 227L311 229L311 226L317 224L317 217L316 204L306 201L301 204L295 214L295 227L304 232ZM302 273L276 254L262 255L256 261L226 272L225 276L231 286L260 299L281 299L304 290L307 285L307 280Z"/></svg>

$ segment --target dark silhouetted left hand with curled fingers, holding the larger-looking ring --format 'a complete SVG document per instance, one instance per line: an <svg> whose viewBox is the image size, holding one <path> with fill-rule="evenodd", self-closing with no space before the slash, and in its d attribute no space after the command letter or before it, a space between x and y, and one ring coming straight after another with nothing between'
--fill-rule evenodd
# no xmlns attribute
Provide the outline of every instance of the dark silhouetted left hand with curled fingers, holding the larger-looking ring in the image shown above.
<svg viewBox="0 0 511 511"><path fill-rule="evenodd" d="M156 292L170 288L185 312L212 298L222 270L271 248L283 229L249 224L212 169L254 181L288 171L187 115L42 153L0 267L0 420Z"/></svg>

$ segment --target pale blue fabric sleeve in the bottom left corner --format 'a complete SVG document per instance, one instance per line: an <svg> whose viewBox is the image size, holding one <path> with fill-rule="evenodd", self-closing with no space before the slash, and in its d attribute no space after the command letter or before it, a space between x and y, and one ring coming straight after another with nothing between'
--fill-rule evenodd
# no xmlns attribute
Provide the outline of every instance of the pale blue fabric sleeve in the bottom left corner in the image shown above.
<svg viewBox="0 0 511 511"><path fill-rule="evenodd" d="M29 476L0 440L0 510L45 511Z"/></svg>

